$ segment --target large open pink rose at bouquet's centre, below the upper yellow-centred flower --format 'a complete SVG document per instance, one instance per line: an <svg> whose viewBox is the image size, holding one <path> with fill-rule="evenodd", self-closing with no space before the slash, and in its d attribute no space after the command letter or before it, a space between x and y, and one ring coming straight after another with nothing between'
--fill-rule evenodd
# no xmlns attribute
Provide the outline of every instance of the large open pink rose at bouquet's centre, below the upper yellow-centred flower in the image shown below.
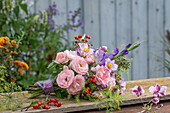
<svg viewBox="0 0 170 113"><path fill-rule="evenodd" d="M80 75L86 74L89 70L86 60L83 57L79 56L71 61L69 67Z"/></svg>

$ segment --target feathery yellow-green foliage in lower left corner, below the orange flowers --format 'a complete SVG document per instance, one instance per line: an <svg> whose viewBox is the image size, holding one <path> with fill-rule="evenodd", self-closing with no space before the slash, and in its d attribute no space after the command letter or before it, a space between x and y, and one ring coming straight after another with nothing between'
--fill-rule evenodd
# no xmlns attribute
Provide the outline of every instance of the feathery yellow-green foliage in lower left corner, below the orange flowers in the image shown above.
<svg viewBox="0 0 170 113"><path fill-rule="evenodd" d="M13 94L15 91L22 91L22 88L14 82L0 84L0 111L15 110L21 107L22 102L20 97L23 94L21 92Z"/></svg>

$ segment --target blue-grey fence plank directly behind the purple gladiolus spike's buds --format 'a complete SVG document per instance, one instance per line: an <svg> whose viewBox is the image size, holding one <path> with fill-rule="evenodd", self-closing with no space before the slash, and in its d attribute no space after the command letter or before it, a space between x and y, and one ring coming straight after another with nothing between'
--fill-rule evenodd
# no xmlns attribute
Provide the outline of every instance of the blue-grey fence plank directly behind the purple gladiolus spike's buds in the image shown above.
<svg viewBox="0 0 170 113"><path fill-rule="evenodd" d="M117 0L116 1L116 36L117 36L117 47L122 44L128 44L132 42L131 39L131 1L129 0ZM130 52L127 55L127 58L131 58L132 53ZM132 63L133 65L133 63ZM133 66L131 67L133 70ZM129 75L133 77L133 73L130 71ZM124 76L125 80L128 80L126 76ZM132 78L131 78L132 79Z"/></svg>

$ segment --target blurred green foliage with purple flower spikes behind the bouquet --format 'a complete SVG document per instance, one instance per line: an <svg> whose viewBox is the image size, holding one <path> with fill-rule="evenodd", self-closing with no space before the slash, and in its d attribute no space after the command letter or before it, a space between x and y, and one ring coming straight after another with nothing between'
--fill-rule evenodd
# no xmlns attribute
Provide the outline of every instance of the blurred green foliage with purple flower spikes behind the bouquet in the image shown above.
<svg viewBox="0 0 170 113"><path fill-rule="evenodd" d="M24 89L36 81L50 78L47 65L58 51L68 48L65 35L69 30L82 27L83 22L75 23L81 18L81 9L72 11L67 23L57 25L54 16L60 16L56 4L50 5L45 11L32 14L24 0L0 1L0 36L11 37L11 34L24 37L20 42L17 59L29 66L29 71L20 76L15 82ZM15 39L14 39L15 40Z"/></svg>

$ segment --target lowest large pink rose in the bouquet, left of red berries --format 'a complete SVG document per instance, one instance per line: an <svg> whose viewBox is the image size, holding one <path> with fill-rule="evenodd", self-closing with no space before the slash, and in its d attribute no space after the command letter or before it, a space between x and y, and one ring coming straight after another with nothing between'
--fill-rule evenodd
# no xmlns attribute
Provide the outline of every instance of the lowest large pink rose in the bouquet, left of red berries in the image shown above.
<svg viewBox="0 0 170 113"><path fill-rule="evenodd" d="M83 83L85 79L82 75L77 75L74 77L73 83L67 89L69 94L76 95L79 91L83 90Z"/></svg>

